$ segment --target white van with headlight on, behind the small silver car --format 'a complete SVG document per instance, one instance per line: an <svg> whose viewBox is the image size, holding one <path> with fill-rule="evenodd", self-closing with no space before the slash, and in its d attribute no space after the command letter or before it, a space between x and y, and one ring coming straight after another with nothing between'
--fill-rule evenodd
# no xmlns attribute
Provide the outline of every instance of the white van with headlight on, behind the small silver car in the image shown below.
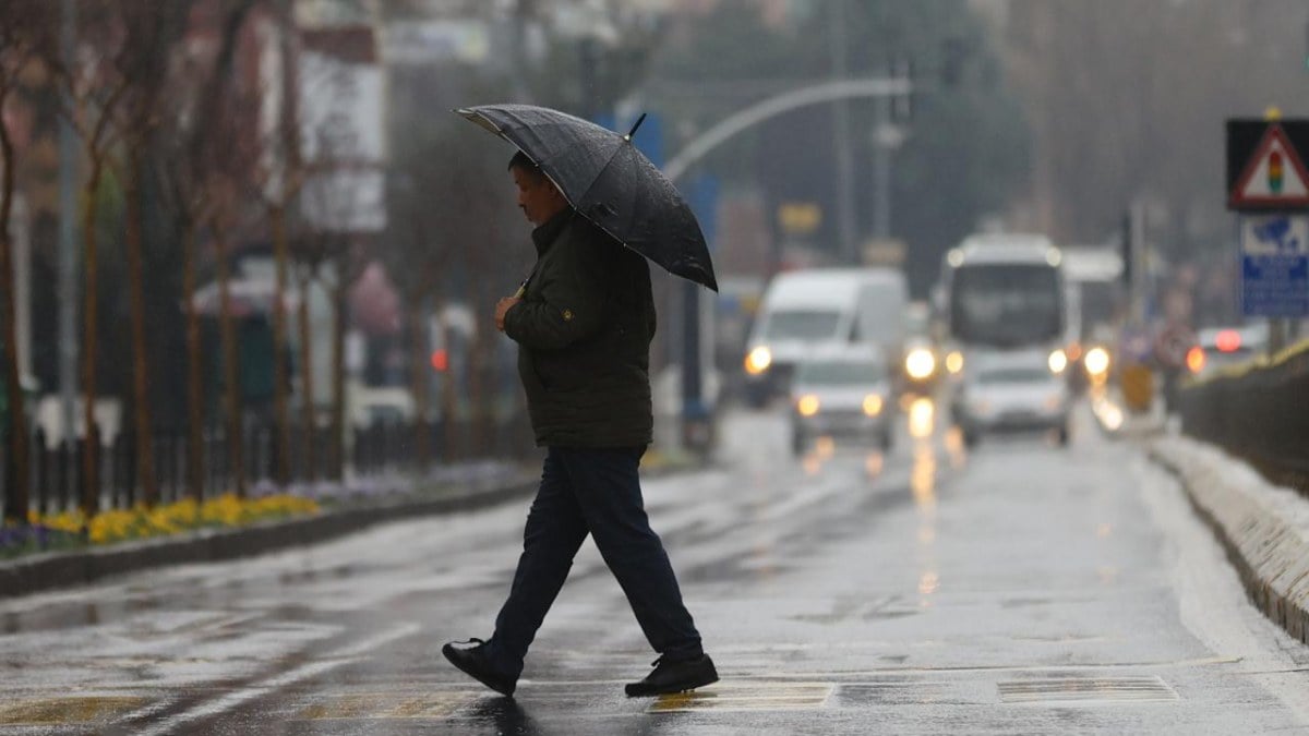
<svg viewBox="0 0 1309 736"><path fill-rule="evenodd" d="M898 356L907 300L905 276L894 268L778 274L763 293L746 343L746 399L761 406L785 393L796 364L818 348L868 343Z"/></svg>

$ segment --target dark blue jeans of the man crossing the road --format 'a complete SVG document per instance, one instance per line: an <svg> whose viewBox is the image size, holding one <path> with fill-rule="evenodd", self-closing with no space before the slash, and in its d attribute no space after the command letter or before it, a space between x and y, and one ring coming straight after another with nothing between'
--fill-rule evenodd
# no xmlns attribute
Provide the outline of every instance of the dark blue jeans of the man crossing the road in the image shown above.
<svg viewBox="0 0 1309 736"><path fill-rule="evenodd" d="M654 651L669 660L703 653L664 542L645 516L637 473L644 453L643 447L550 448L509 600L487 642L487 653L505 674L522 672L528 647L588 533Z"/></svg>

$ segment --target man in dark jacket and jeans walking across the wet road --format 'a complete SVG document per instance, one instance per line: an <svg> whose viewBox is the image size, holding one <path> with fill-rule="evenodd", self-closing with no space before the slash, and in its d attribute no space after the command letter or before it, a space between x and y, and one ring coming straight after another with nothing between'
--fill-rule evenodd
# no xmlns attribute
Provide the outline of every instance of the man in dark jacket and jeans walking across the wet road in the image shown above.
<svg viewBox="0 0 1309 736"><path fill-rule="evenodd" d="M649 267L577 215L528 156L517 153L509 172L518 207L535 225L537 266L517 296L500 300L495 320L518 343L531 427L547 454L495 633L441 651L454 667L512 695L528 647L590 534L660 655L627 694L716 682L641 500L640 458L653 437Z"/></svg>

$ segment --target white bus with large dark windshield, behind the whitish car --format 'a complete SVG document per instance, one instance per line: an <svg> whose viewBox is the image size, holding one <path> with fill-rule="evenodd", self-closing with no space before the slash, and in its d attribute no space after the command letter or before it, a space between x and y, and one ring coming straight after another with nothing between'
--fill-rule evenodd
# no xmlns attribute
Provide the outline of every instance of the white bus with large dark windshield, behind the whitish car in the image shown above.
<svg viewBox="0 0 1309 736"><path fill-rule="evenodd" d="M1069 330L1062 261L1039 234L974 234L950 249L937 304L948 372L965 372L970 356L1022 351L1043 354L1062 375Z"/></svg>

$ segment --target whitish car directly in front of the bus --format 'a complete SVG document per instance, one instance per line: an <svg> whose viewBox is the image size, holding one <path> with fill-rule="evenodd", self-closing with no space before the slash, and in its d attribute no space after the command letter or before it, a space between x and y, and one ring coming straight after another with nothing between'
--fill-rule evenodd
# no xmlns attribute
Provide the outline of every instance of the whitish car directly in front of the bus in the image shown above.
<svg viewBox="0 0 1309 736"><path fill-rule="evenodd" d="M1068 385L1046 354L1022 351L974 360L950 409L969 447L987 433L1038 430L1058 432L1067 445L1069 403Z"/></svg>

